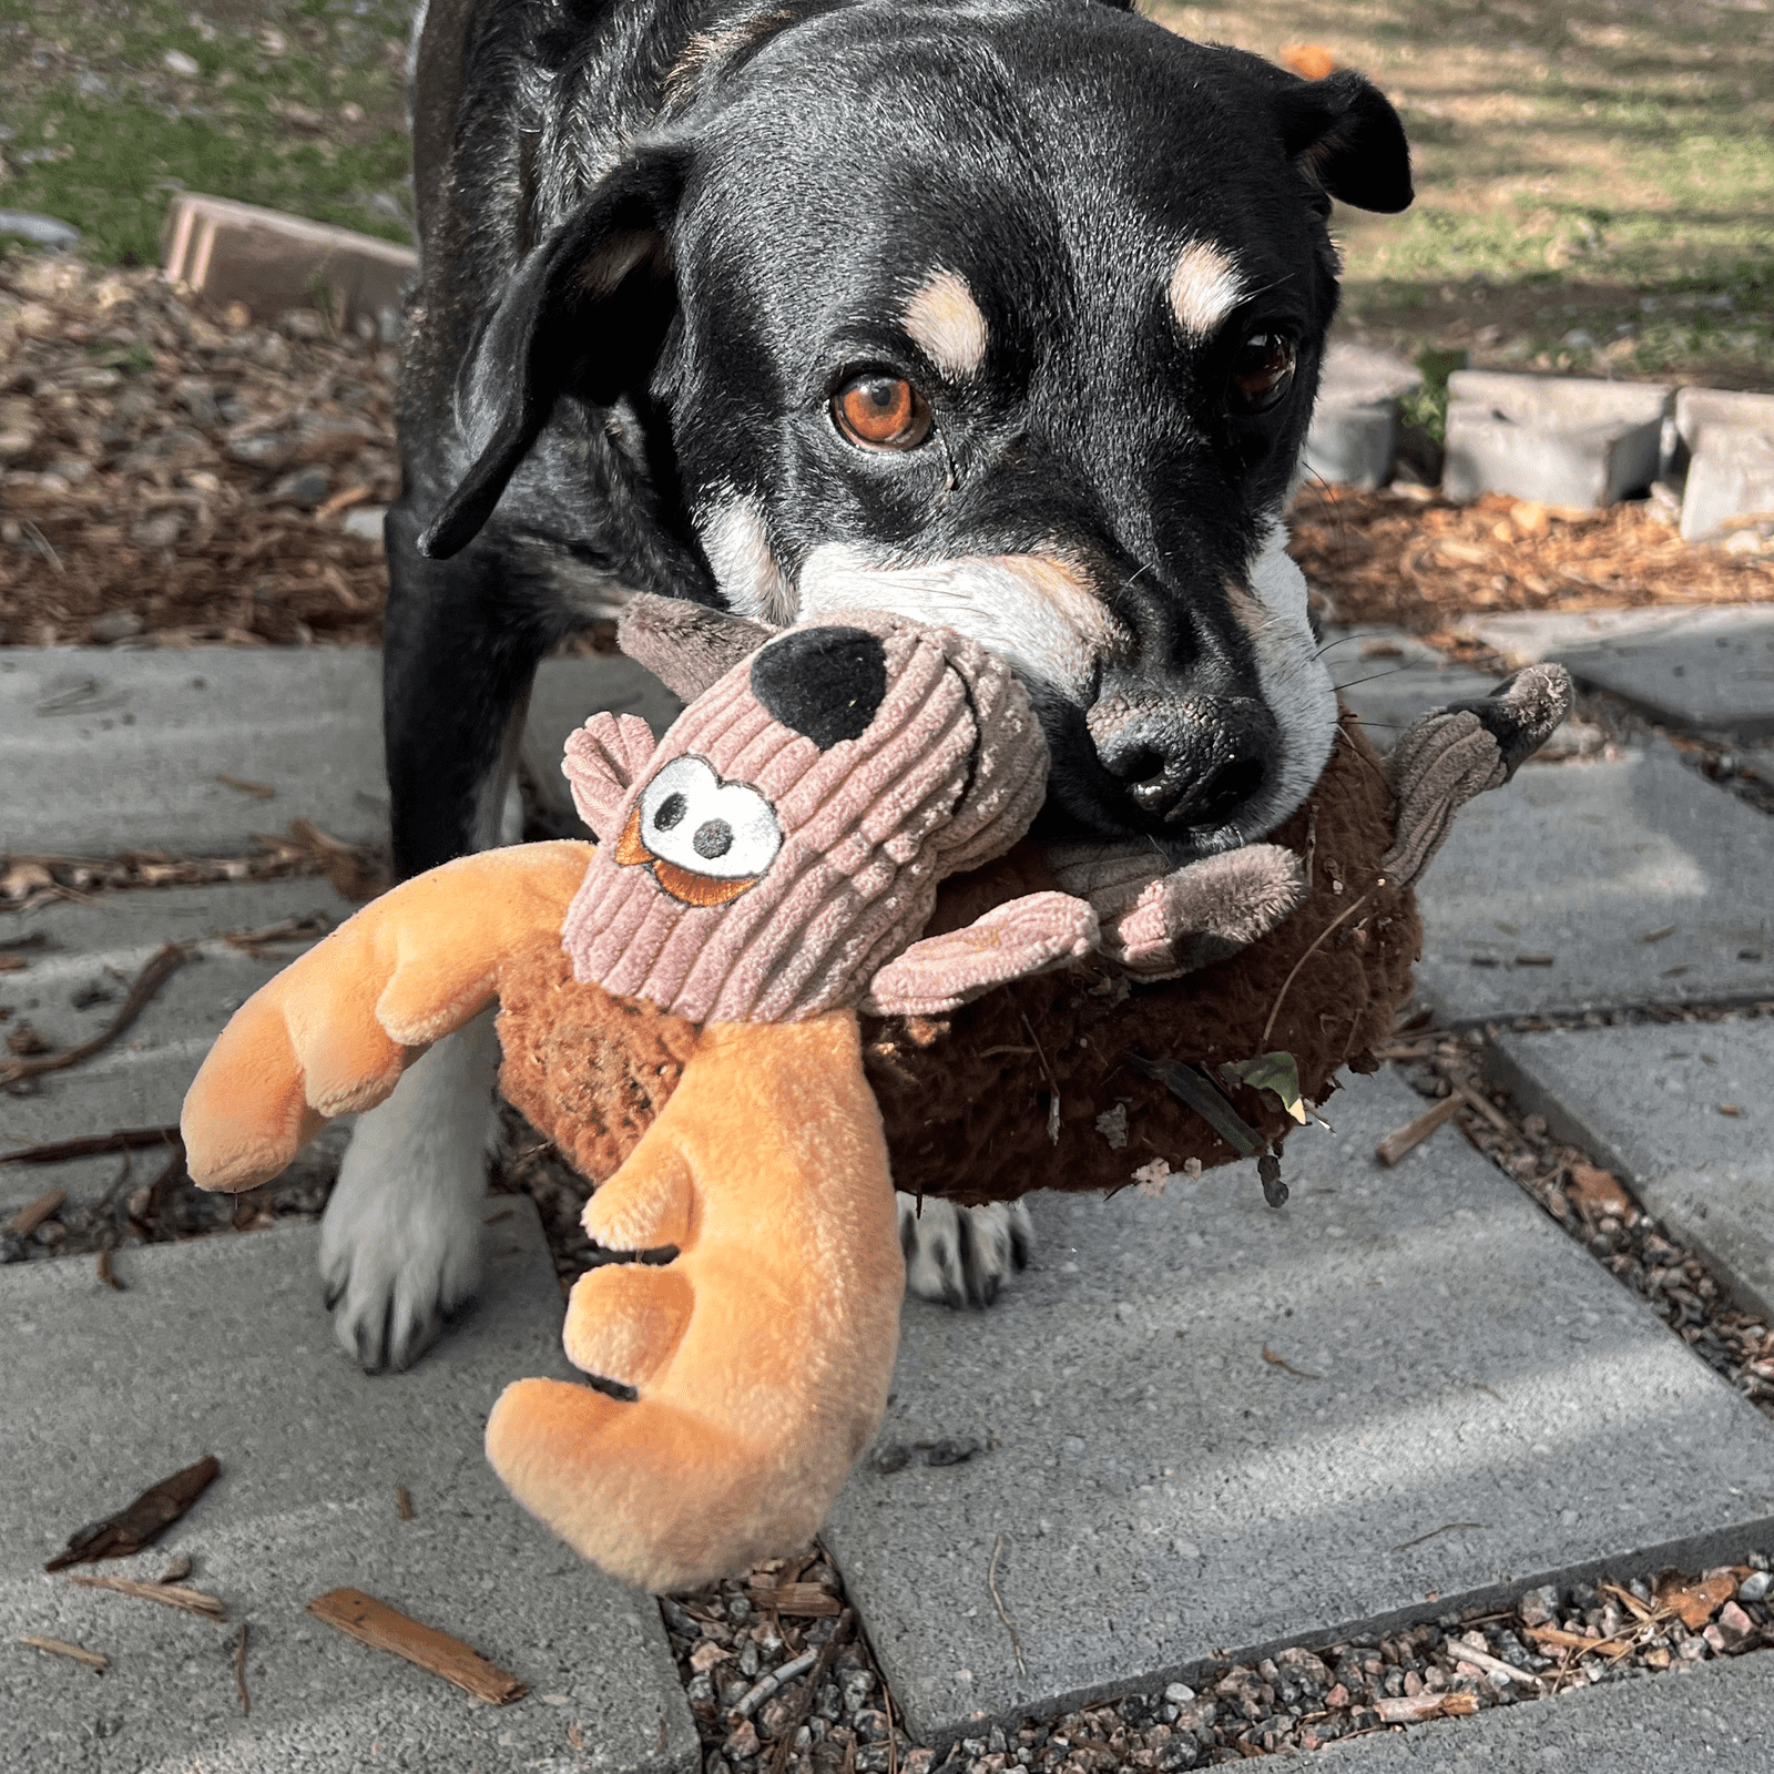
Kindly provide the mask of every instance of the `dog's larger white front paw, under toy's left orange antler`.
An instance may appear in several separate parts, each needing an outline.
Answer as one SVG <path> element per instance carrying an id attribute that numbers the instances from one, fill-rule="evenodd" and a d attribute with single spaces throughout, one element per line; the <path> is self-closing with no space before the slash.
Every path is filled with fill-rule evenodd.
<path id="1" fill-rule="evenodd" d="M 486 1013 L 358 1118 L 321 1222 L 321 1281 L 334 1336 L 369 1373 L 412 1366 L 481 1279 L 497 1066 Z"/>

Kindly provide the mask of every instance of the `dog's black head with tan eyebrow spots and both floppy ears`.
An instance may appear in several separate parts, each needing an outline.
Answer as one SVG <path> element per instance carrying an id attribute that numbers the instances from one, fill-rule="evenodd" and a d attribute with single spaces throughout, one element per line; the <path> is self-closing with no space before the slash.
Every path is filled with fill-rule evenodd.
<path id="1" fill-rule="evenodd" d="M 431 550 L 557 399 L 614 406 L 727 608 L 1015 665 L 1050 823 L 1187 860 L 1283 820 L 1336 704 L 1281 509 L 1330 199 L 1410 200 L 1385 99 L 1095 0 L 784 0 L 663 92 L 495 314 Z"/>

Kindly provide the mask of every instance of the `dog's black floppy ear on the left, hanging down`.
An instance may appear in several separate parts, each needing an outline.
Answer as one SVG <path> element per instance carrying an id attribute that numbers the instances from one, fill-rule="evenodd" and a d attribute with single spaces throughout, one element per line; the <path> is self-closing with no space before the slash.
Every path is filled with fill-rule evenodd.
<path id="1" fill-rule="evenodd" d="M 523 261 L 468 369 L 481 454 L 419 538 L 422 555 L 447 561 L 474 541 L 562 389 L 603 406 L 646 389 L 676 310 L 669 227 L 687 170 L 681 147 L 630 154 Z"/>

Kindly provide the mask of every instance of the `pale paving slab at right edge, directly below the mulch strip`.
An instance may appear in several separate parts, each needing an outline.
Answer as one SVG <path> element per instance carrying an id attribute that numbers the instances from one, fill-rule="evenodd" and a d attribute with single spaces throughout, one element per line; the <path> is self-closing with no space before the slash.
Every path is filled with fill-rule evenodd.
<path id="1" fill-rule="evenodd" d="M 1664 726 L 1774 734 L 1774 605 L 1533 612 L 1462 624 L 1511 658 L 1550 658 Z"/>

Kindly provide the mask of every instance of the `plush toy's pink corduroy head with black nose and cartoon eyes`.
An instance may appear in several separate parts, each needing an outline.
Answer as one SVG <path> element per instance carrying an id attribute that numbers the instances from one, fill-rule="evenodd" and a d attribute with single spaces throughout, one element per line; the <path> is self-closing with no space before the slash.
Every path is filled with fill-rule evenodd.
<path id="1" fill-rule="evenodd" d="M 692 1022 L 855 1002 L 937 883 L 1017 843 L 1047 786 L 1009 669 L 876 612 L 766 640 L 651 756 L 637 729 L 598 715 L 568 742 L 603 844 L 562 942 L 577 979 Z"/>

